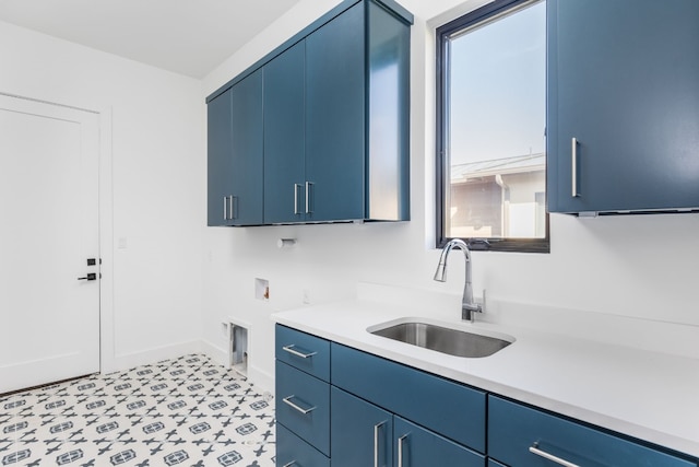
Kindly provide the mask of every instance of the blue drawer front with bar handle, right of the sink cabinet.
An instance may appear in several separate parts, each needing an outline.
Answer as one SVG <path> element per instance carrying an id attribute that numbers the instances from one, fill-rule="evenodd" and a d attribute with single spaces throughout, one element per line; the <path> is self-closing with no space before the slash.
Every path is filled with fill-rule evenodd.
<path id="1" fill-rule="evenodd" d="M 697 466 L 613 434 L 490 396 L 488 455 L 517 467 L 554 465 L 530 452 L 535 444 L 545 453 L 580 466 Z"/>

